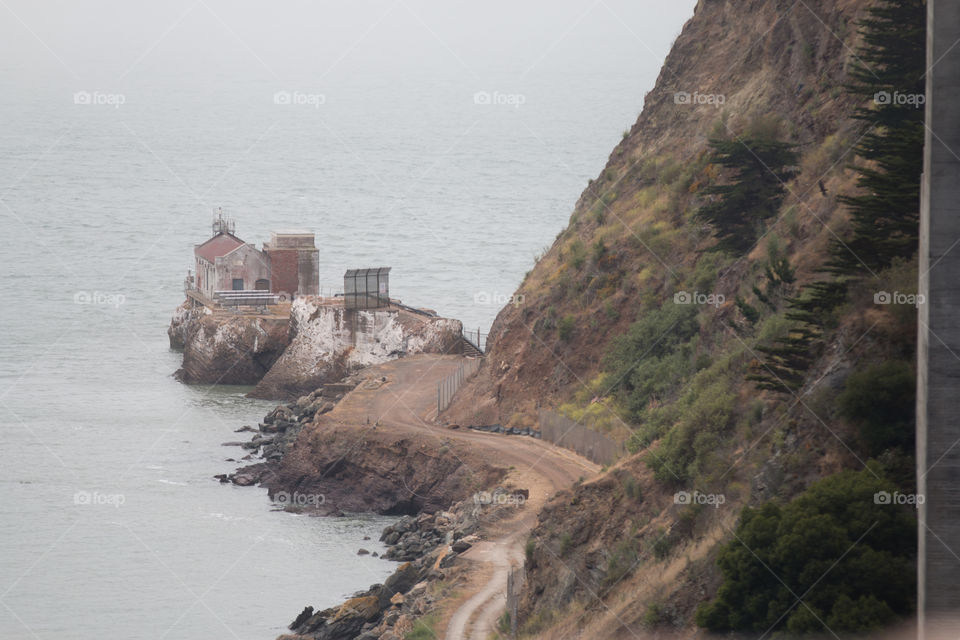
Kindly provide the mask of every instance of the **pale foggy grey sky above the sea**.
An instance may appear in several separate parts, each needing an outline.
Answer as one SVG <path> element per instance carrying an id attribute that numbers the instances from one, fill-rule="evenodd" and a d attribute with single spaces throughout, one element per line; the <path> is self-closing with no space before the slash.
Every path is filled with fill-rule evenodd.
<path id="1" fill-rule="evenodd" d="M 655 77 L 694 4 L 4 0 L 0 80 L 119 90 L 171 77 L 316 83 L 438 69 L 478 82 L 593 69 Z"/>

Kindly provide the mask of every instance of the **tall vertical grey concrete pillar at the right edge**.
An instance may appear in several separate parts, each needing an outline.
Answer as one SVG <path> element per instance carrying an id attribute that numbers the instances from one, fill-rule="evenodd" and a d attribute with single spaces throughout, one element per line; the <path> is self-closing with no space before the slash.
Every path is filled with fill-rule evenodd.
<path id="1" fill-rule="evenodd" d="M 918 636 L 960 620 L 960 2 L 927 0 L 917 344 Z"/>

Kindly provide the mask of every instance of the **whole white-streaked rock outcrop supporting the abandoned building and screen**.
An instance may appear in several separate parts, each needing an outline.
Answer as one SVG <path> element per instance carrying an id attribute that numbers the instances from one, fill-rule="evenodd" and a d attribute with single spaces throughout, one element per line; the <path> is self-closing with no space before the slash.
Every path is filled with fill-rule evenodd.
<path id="1" fill-rule="evenodd" d="M 289 317 L 212 311 L 187 300 L 167 335 L 183 350 L 182 382 L 256 385 L 252 397 L 288 400 L 404 355 L 457 353 L 461 328 L 404 308 L 347 311 L 314 298 L 296 300 Z"/>

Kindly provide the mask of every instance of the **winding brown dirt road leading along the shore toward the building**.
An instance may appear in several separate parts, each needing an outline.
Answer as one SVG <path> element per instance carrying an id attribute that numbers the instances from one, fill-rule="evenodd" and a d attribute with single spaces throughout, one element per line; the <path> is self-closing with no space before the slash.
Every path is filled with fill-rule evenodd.
<path id="1" fill-rule="evenodd" d="M 593 476 L 599 467 L 535 438 L 453 430 L 437 424 L 437 383 L 462 362 L 460 356 L 417 355 L 368 369 L 370 382 L 347 394 L 328 417 L 428 434 L 438 448 L 447 442 L 466 443 L 471 453 L 510 466 L 511 481 L 530 491 L 522 512 L 504 522 L 495 539 L 484 540 L 463 554 L 469 562 L 492 567 L 492 577 L 453 613 L 444 638 L 485 640 L 503 612 L 507 574 L 511 566 L 523 562 L 523 544 L 536 524 L 537 513 L 554 493 Z"/>

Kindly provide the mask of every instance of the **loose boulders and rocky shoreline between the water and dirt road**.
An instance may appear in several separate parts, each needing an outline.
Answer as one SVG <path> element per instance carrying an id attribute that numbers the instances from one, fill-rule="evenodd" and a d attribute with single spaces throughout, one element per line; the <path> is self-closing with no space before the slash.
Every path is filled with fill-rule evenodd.
<path id="1" fill-rule="evenodd" d="M 317 423 L 323 422 L 351 390 L 361 385 L 373 388 L 386 382 L 386 378 L 360 372 L 323 385 L 296 401 L 278 405 L 256 428 L 244 426 L 237 429 L 237 433 L 251 434 L 248 441 L 224 443 L 247 452 L 243 458 L 231 460 L 250 464 L 215 478 L 221 483 L 266 487 L 273 503 L 285 511 L 332 517 L 360 511 L 407 513 L 386 527 L 380 536 L 386 546 L 382 557 L 402 563 L 394 573 L 383 584 L 371 585 L 341 605 L 322 611 L 306 606 L 289 625 L 292 634 L 281 636 L 282 640 L 400 640 L 414 628 L 418 618 L 435 608 L 442 597 L 437 585 L 449 580 L 451 572 L 456 573 L 460 554 L 481 539 L 483 526 L 507 515 L 515 515 L 516 507 L 522 506 L 528 496 L 525 490 L 499 486 L 502 474 L 497 472 L 485 477 L 490 482 L 485 486 L 494 487 L 491 492 L 465 494 L 462 483 L 443 482 L 447 469 L 441 465 L 418 469 L 421 472 L 419 481 L 429 485 L 433 494 L 424 495 L 420 500 L 397 500 L 392 496 L 400 487 L 385 493 L 381 493 L 380 487 L 384 481 L 388 484 L 406 483 L 404 475 L 371 478 L 369 474 L 373 468 L 377 468 L 381 475 L 385 470 L 375 464 L 378 459 L 376 449 L 365 447 L 359 450 L 359 454 L 373 456 L 373 465 L 367 466 L 357 460 L 344 465 L 350 469 L 346 475 L 331 473 L 328 480 L 332 482 L 322 487 L 325 492 L 322 501 L 301 504 L 292 500 L 290 496 L 316 495 L 305 493 L 311 491 L 308 487 L 315 483 L 302 477 L 291 481 L 289 469 L 285 468 L 295 446 L 304 446 L 304 443 L 297 443 L 299 438 L 309 435 L 304 434 L 304 430 L 330 427 Z M 351 433 L 356 432 L 357 428 L 353 427 Z M 331 431 L 330 435 L 336 437 L 338 433 L 342 435 L 343 432 Z M 327 443 L 328 446 L 331 444 Z M 403 458 L 408 452 L 391 450 L 390 455 Z M 372 502 L 365 497 L 371 492 L 378 494 Z M 444 501 L 443 508 L 438 508 L 437 505 Z M 358 509 L 358 505 L 372 505 L 373 508 Z M 358 553 L 367 551 L 360 549 Z"/>

